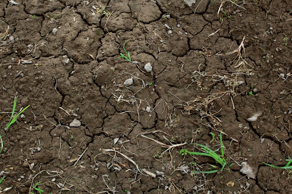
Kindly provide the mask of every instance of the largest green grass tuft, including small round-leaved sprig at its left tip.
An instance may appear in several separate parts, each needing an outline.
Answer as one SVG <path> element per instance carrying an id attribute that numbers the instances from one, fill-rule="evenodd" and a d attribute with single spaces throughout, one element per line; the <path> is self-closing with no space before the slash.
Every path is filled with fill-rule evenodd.
<path id="1" fill-rule="evenodd" d="M 180 150 L 180 154 L 181 155 L 186 155 L 186 154 L 191 154 L 191 155 L 200 155 L 200 156 L 208 156 L 208 157 L 212 157 L 216 164 L 219 163 L 221 164 L 221 170 L 222 171 L 224 169 L 224 167 L 226 166 L 227 162 L 224 158 L 224 146 L 223 146 L 223 141 L 222 141 L 222 131 L 220 132 L 220 154 L 218 155 L 216 153 L 216 151 L 218 151 L 219 149 L 217 150 L 212 150 L 210 148 L 208 148 L 207 146 L 205 145 L 201 145 L 201 144 L 195 144 L 195 145 L 198 145 L 199 147 L 201 147 L 201 150 L 203 150 L 203 152 L 189 152 L 188 150 L 186 149 L 182 149 Z M 211 165 L 209 164 L 209 166 L 211 166 L 211 168 L 218 168 L 217 166 L 215 165 Z M 205 173 L 205 174 L 209 174 L 209 173 L 216 173 L 218 172 L 219 170 L 209 170 L 209 171 L 197 171 L 197 170 L 193 170 L 194 173 Z"/>

